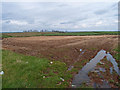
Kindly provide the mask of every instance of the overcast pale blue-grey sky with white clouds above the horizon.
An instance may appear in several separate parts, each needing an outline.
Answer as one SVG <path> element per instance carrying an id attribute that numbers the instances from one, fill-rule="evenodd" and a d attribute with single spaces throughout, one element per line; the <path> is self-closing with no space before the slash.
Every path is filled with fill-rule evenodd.
<path id="1" fill-rule="evenodd" d="M 2 31 L 118 30 L 117 2 L 2 2 Z"/>

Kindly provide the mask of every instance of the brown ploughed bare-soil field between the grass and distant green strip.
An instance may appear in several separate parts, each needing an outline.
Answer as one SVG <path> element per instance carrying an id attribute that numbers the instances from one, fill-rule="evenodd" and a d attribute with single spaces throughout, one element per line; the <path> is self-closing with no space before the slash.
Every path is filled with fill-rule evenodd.
<path id="1" fill-rule="evenodd" d="M 100 36 L 34 36 L 11 37 L 2 40 L 2 48 L 28 56 L 47 58 L 52 61 L 64 62 L 67 67 L 74 66 L 73 76 L 88 63 L 101 49 L 115 55 L 118 46 L 117 35 Z M 84 51 L 82 55 L 81 51 Z M 3 61 L 4 62 L 4 61 Z M 104 61 L 103 61 L 104 62 Z M 109 64 L 108 64 L 109 65 Z M 107 74 L 106 74 L 107 75 Z M 92 82 L 97 78 L 91 73 Z M 106 76 L 107 78 L 107 76 Z M 69 87 L 71 87 L 71 78 Z M 115 78 L 118 82 L 118 79 Z M 97 82 L 100 82 L 99 80 Z M 111 87 L 118 87 L 111 84 Z"/>

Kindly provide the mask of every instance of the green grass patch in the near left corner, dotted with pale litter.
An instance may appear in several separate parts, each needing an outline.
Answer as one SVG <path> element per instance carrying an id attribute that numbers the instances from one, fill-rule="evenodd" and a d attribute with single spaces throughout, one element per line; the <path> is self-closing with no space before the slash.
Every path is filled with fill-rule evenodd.
<path id="1" fill-rule="evenodd" d="M 2 50 L 3 88 L 65 88 L 72 75 L 63 62 Z M 63 78 L 65 81 L 62 81 Z"/>

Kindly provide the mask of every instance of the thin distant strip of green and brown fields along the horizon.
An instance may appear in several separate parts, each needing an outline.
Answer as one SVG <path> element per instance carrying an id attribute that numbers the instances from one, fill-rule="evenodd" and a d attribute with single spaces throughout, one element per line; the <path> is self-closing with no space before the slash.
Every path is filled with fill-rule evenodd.
<path id="1" fill-rule="evenodd" d="M 31 37 L 31 36 L 86 36 L 86 35 L 118 35 L 115 31 L 96 32 L 23 32 L 23 33 L 3 33 L 3 38 L 8 37 Z"/>

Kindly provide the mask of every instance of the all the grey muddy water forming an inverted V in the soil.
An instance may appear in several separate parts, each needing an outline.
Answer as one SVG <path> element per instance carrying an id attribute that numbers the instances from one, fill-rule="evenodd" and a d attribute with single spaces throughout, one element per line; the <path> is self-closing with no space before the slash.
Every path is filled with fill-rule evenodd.
<path id="1" fill-rule="evenodd" d="M 80 85 L 84 82 L 84 83 L 89 83 L 90 82 L 90 79 L 88 77 L 88 73 L 92 70 L 94 70 L 94 67 L 97 65 L 97 63 L 100 62 L 100 60 L 102 60 L 104 57 L 107 57 L 107 60 L 109 60 L 113 66 L 114 66 L 114 70 L 118 73 L 118 75 L 120 75 L 120 71 L 119 71 L 119 68 L 118 68 L 118 64 L 117 62 L 115 61 L 115 59 L 112 57 L 111 54 L 107 53 L 106 54 L 106 51 L 105 50 L 100 50 L 97 55 L 90 60 L 89 63 L 87 63 L 80 71 L 77 75 L 75 75 L 73 81 L 72 81 L 72 87 L 80 87 Z M 100 68 L 99 69 L 100 71 L 102 70 L 103 72 L 105 72 L 105 70 L 103 68 Z M 98 71 L 99 73 L 99 71 Z M 105 82 L 103 82 L 105 83 Z M 108 88 L 109 85 L 107 85 L 106 83 L 106 86 L 102 86 L 102 87 L 106 87 Z"/>

